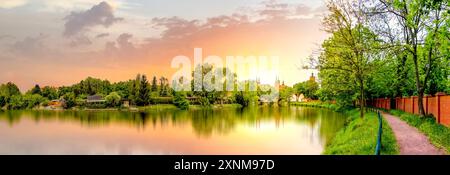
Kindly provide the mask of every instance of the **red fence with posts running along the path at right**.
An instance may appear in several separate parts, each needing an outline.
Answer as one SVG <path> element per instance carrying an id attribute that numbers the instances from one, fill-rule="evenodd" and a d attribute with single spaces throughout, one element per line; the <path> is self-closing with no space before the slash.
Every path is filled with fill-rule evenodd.
<path id="1" fill-rule="evenodd" d="M 417 96 L 412 97 L 397 97 L 378 98 L 368 101 L 369 106 L 383 108 L 383 109 L 397 109 L 412 114 L 419 114 Z M 440 124 L 450 126 L 450 95 L 438 93 L 436 96 L 423 97 L 423 108 L 426 114 L 431 114 L 436 118 Z"/>

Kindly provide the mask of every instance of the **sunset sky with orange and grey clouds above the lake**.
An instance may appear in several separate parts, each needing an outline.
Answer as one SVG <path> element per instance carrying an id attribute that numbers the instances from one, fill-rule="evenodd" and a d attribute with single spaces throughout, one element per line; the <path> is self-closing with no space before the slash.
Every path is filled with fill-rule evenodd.
<path id="1" fill-rule="evenodd" d="M 137 73 L 171 77 L 172 58 L 279 56 L 292 85 L 327 37 L 318 0 L 1 0 L 0 83 L 71 85 Z"/>

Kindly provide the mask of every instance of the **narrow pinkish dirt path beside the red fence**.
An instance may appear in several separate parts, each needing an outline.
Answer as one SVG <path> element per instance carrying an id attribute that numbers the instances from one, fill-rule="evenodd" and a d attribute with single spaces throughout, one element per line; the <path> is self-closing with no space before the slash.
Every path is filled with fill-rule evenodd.
<path id="1" fill-rule="evenodd" d="M 417 128 L 409 126 L 400 118 L 383 113 L 384 118 L 394 131 L 400 147 L 400 155 L 443 155 L 444 151 L 437 149 L 428 138 Z"/>

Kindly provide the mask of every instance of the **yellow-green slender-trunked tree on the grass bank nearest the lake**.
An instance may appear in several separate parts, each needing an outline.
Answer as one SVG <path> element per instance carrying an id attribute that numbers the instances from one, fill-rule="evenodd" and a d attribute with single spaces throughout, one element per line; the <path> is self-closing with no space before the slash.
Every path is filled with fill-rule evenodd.
<path id="1" fill-rule="evenodd" d="M 359 7 L 358 4 L 350 2 L 329 2 L 330 14 L 325 17 L 323 26 L 332 36 L 322 44 L 324 52 L 319 57 L 319 69 L 322 74 L 328 74 L 328 76 L 333 75 L 326 70 L 347 75 L 346 78 L 356 84 L 357 94 L 355 95 L 358 96 L 360 116 L 363 117 L 366 99 L 365 83 L 367 76 L 374 68 L 372 61 L 377 59 L 374 48 L 378 48 L 378 38 L 376 34 L 364 27 L 362 20 L 364 16 L 361 15 Z"/>

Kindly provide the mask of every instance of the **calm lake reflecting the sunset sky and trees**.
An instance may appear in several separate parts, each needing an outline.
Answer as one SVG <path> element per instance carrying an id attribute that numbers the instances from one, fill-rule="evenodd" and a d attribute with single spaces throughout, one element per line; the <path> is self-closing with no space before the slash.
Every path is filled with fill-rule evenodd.
<path id="1" fill-rule="evenodd" d="M 309 107 L 0 112 L 0 154 L 320 154 L 345 116 Z"/>

